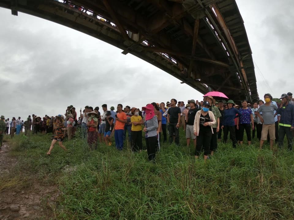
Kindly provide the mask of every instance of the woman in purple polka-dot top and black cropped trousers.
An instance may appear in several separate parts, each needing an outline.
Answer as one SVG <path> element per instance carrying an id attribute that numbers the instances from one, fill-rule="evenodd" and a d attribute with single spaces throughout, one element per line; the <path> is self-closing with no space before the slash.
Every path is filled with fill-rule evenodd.
<path id="1" fill-rule="evenodd" d="M 251 144 L 251 128 L 254 130 L 252 111 L 247 107 L 247 101 L 242 101 L 242 108 L 239 109 L 241 116 L 237 118 L 237 129 L 239 130 L 240 144 L 243 144 L 244 130 L 246 131 L 248 145 Z M 240 123 L 239 123 L 240 122 Z M 251 126 L 252 124 L 252 126 Z"/>

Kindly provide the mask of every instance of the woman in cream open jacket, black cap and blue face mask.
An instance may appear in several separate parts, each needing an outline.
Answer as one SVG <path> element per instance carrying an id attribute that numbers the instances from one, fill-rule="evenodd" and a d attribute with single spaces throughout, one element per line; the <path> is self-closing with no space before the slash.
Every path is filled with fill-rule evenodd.
<path id="1" fill-rule="evenodd" d="M 198 111 L 194 119 L 194 135 L 196 138 L 195 158 L 198 159 L 203 146 L 204 160 L 210 154 L 210 142 L 213 134 L 212 126 L 216 124 L 215 117 L 212 111 L 209 111 L 209 102 L 205 101 L 202 105 L 202 110 Z"/>

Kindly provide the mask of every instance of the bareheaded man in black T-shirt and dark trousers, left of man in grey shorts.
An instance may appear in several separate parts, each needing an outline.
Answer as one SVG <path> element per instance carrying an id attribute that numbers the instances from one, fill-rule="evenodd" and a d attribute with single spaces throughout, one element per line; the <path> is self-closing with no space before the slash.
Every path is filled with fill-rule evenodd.
<path id="1" fill-rule="evenodd" d="M 180 144 L 179 138 L 179 127 L 181 120 L 181 109 L 177 106 L 176 99 L 171 99 L 171 107 L 168 108 L 168 132 L 169 132 L 169 142 L 173 142 L 172 135 L 175 133 L 175 143 L 176 145 Z M 184 107 L 185 108 L 185 107 Z"/>

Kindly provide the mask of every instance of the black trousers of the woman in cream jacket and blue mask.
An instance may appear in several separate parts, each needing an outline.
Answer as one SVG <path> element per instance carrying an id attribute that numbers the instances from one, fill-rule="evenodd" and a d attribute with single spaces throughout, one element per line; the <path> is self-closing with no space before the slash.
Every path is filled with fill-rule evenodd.
<path id="1" fill-rule="evenodd" d="M 210 141 L 211 141 L 212 132 L 211 130 L 203 131 L 199 130 L 199 134 L 196 138 L 196 149 L 195 156 L 199 156 L 201 154 L 201 148 L 204 149 L 204 155 L 210 154 Z"/>

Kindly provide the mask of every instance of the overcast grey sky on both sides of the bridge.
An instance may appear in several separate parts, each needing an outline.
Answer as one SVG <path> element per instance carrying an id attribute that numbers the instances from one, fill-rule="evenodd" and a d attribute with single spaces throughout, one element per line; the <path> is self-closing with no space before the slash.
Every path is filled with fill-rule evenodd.
<path id="1" fill-rule="evenodd" d="M 255 66 L 259 96 L 294 92 L 294 1 L 237 4 L 260 70 Z M 203 96 L 153 65 L 73 29 L 23 13 L 13 16 L 3 8 L 0 20 L 0 114 L 6 118 L 55 116 L 68 105 L 77 110 L 104 103 L 139 108 Z"/>

